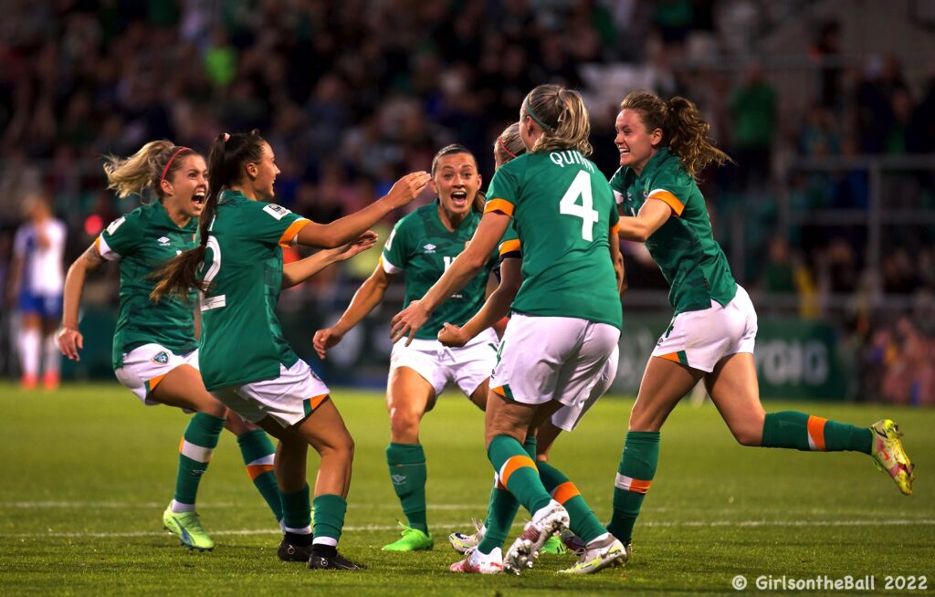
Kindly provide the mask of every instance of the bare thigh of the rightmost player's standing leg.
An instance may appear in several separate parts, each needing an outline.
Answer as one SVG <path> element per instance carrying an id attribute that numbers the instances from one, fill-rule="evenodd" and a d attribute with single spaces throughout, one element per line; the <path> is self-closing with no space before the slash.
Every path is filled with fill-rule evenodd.
<path id="1" fill-rule="evenodd" d="M 675 405 L 702 376 L 703 371 L 679 362 L 650 357 L 640 381 L 637 401 L 630 411 L 629 431 L 659 431 Z"/>

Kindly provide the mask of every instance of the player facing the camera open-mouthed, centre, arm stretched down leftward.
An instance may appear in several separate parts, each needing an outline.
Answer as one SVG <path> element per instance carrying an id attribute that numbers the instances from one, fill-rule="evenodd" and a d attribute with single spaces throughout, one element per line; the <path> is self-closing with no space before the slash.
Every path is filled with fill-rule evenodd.
<path id="1" fill-rule="evenodd" d="M 323 359 L 328 348 L 380 304 L 394 277 L 405 274 L 404 306 L 409 305 L 441 277 L 477 230 L 483 207 L 481 175 L 468 148 L 449 145 L 439 150 L 432 160 L 431 174 L 430 184 L 438 199 L 396 223 L 377 269 L 354 294 L 351 305 L 335 325 L 315 333 L 315 349 Z M 490 327 L 477 331 L 458 348 L 442 346 L 437 335 L 445 321 L 462 324 L 478 312 L 496 262 L 495 249 L 488 253 L 480 273 L 439 306 L 411 344 L 400 340 L 393 347 L 386 391 L 390 415 L 386 463 L 409 524 L 403 528 L 402 538 L 383 547 L 385 551 L 415 551 L 434 545 L 425 515 L 427 473 L 419 423 L 450 383 L 483 409 L 498 344 Z"/>

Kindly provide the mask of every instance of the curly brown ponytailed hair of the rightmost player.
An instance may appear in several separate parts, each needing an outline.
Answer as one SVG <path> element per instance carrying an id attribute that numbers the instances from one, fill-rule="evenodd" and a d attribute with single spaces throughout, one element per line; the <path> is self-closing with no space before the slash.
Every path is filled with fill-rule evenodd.
<path id="1" fill-rule="evenodd" d="M 709 163 L 733 163 L 721 149 L 714 147 L 708 133 L 711 124 L 701 118 L 698 107 L 684 97 L 668 102 L 651 92 L 631 92 L 620 103 L 620 109 L 640 112 L 640 121 L 648 133 L 662 131 L 662 143 L 669 147 L 692 178 Z"/>

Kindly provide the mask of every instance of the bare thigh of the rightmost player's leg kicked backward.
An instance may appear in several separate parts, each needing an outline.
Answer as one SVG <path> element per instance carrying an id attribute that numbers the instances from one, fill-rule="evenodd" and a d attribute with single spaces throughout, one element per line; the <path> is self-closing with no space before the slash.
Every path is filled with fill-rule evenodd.
<path id="1" fill-rule="evenodd" d="M 737 441 L 744 446 L 762 444 L 766 411 L 760 403 L 754 355 L 738 352 L 726 356 L 704 381 L 712 402 Z"/>

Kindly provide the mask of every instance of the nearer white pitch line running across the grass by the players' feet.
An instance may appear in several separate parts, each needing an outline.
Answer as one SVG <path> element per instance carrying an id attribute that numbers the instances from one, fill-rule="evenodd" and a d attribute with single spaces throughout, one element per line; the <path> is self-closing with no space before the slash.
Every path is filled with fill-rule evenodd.
<path id="1" fill-rule="evenodd" d="M 521 524 L 514 522 L 513 526 Z M 436 529 L 461 529 L 469 526 L 468 522 L 444 522 L 432 524 Z M 640 523 L 641 527 L 887 527 L 887 526 L 935 526 L 935 519 L 879 519 L 879 520 L 649 520 Z M 345 533 L 360 531 L 396 531 L 398 525 L 366 524 L 344 527 Z M 216 535 L 253 535 L 253 534 L 280 534 L 276 529 L 228 529 L 211 531 Z M 0 538 L 29 539 L 39 537 L 56 537 L 80 539 L 96 538 L 123 538 L 123 537 L 154 537 L 165 534 L 152 531 L 130 531 L 125 533 L 0 533 Z"/>

